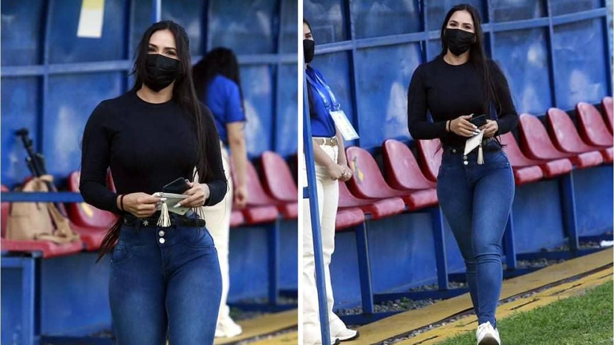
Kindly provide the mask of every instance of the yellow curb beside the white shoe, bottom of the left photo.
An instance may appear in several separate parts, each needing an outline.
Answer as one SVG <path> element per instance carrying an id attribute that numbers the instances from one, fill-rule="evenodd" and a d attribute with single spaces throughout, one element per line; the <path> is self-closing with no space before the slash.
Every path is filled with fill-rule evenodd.
<path id="1" fill-rule="evenodd" d="M 216 338 L 214 344 L 236 343 L 237 341 L 254 338 L 255 336 L 297 327 L 298 311 L 297 309 L 292 309 L 274 314 L 263 314 L 253 319 L 241 320 L 238 324 L 243 328 L 243 333 L 233 338 Z"/>

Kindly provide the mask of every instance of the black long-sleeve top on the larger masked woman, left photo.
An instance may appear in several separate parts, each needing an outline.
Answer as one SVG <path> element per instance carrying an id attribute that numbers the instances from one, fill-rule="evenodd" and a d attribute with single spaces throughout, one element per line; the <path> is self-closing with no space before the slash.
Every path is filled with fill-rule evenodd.
<path id="1" fill-rule="evenodd" d="M 210 171 L 204 181 L 211 192 L 205 201 L 209 206 L 223 199 L 227 181 L 211 111 L 201 104 L 201 114 L 211 143 L 206 148 Z M 173 99 L 148 103 L 134 90 L 98 104 L 83 133 L 79 189 L 85 202 L 122 214 L 116 202 L 119 194 L 152 194 L 178 177 L 192 180 L 197 141 L 190 117 Z M 106 187 L 108 167 L 117 193 Z"/>

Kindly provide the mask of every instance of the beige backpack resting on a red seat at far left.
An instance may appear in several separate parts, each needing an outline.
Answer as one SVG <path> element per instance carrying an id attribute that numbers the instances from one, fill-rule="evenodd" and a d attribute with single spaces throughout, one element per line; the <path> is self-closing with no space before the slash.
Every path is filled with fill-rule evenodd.
<path id="1" fill-rule="evenodd" d="M 34 177 L 26 182 L 22 192 L 49 192 L 45 181 L 51 175 Z M 79 239 L 68 219 L 61 215 L 53 203 L 12 203 L 6 223 L 6 238 L 19 240 L 52 241 L 58 244 Z"/>

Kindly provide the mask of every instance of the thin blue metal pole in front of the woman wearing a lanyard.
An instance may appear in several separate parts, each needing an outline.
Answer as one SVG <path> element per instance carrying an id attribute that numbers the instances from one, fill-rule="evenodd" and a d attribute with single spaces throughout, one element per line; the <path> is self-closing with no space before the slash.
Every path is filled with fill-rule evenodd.
<path id="1" fill-rule="evenodd" d="M 303 65 L 303 71 L 305 71 L 305 65 Z M 311 210 L 309 213 L 311 214 L 311 232 L 313 233 L 313 255 L 316 264 L 317 305 L 320 311 L 322 345 L 330 345 L 330 329 L 328 328 L 328 308 L 324 278 L 324 258 L 322 257 L 322 234 L 320 232 L 320 216 L 317 208 L 316 167 L 314 166 L 313 145 L 311 143 L 311 125 L 309 123 L 309 102 L 307 99 L 307 84 L 305 82 L 304 75 L 303 147 L 305 150 L 305 165 L 307 168 L 307 187 L 303 188 L 303 198 L 309 198 L 309 210 Z"/>

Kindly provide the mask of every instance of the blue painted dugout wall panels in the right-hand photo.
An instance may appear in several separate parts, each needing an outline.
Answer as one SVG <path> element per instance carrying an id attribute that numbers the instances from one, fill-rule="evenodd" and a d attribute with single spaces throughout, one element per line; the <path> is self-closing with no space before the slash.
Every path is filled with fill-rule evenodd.
<path id="1" fill-rule="evenodd" d="M 414 69 L 440 52 L 438 30 L 446 12 L 463 2 L 480 11 L 487 53 L 507 76 L 518 112 L 572 110 L 579 101 L 599 103 L 612 95 L 612 1 L 606 7 L 600 0 L 304 0 L 316 40 L 312 64 L 327 77 L 360 134 L 346 145 L 365 147 L 378 160 L 384 139 L 413 146 L 407 87 Z M 599 166 L 574 174 L 581 235 L 612 231 L 612 172 L 612 166 Z M 565 243 L 556 180 L 517 187 L 513 212 L 518 252 Z M 427 214 L 369 224 L 376 292 L 435 282 L 431 231 Z M 351 232 L 336 234 L 335 308 L 356 305 L 360 298 L 354 241 Z M 463 271 L 447 223 L 446 250 L 449 269 Z"/>

